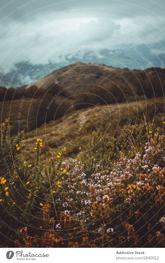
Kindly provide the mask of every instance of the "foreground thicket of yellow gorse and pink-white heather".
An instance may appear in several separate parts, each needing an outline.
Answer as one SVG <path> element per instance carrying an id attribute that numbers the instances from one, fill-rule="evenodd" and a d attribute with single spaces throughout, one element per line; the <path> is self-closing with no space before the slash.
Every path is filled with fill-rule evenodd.
<path id="1" fill-rule="evenodd" d="M 64 147 L 45 163 L 43 140 L 24 161 L 24 132 L 10 137 L 4 121 L 1 245 L 163 247 L 165 136 L 162 127 L 141 128 L 129 124 L 111 140 L 93 132 L 78 160 L 66 162 Z"/>

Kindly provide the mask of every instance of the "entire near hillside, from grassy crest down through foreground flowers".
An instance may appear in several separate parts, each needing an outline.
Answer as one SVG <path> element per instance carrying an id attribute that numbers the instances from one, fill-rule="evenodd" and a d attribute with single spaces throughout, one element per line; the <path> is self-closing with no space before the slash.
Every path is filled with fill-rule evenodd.
<path id="1" fill-rule="evenodd" d="M 163 248 L 163 111 L 164 98 L 98 105 L 13 138 L 5 120 L 1 246 Z"/>

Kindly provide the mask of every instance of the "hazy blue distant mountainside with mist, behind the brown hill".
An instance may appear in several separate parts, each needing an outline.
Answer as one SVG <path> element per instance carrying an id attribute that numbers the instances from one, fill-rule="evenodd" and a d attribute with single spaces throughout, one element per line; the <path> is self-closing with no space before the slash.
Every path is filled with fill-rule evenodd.
<path id="1" fill-rule="evenodd" d="M 120 49 L 121 48 L 121 49 Z M 163 52 L 163 51 L 162 51 Z M 145 54 L 145 59 L 143 58 Z M 147 57 L 147 55 L 148 57 Z M 165 54 L 161 53 L 162 61 L 165 61 Z M 15 60 L 12 66 L 5 72 L 0 71 L 0 85 L 6 87 L 19 87 L 29 85 L 34 81 L 46 76 L 55 69 L 65 67 L 72 63 L 100 63 L 116 68 L 146 69 L 150 67 L 163 67 L 158 56 L 150 52 L 145 45 L 128 47 L 112 47 L 107 45 L 82 45 L 81 50 L 67 55 L 59 55 L 57 62 L 49 59 L 47 64 L 34 63 L 28 61 L 17 62 Z M 3 76 L 4 75 L 4 76 Z"/>

